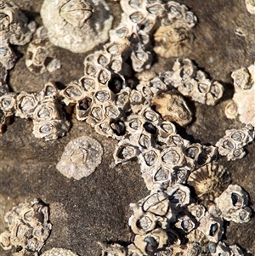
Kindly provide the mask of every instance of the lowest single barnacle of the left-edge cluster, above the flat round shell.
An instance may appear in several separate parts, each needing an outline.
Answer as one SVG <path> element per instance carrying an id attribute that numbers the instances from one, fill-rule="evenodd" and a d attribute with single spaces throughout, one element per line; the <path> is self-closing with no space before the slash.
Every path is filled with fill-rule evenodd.
<path id="1" fill-rule="evenodd" d="M 34 120 L 33 125 L 33 134 L 35 137 L 43 138 L 45 140 L 58 139 L 59 137 L 63 137 L 70 128 L 70 122 L 65 121 L 65 119 L 47 119 L 39 122 Z"/>

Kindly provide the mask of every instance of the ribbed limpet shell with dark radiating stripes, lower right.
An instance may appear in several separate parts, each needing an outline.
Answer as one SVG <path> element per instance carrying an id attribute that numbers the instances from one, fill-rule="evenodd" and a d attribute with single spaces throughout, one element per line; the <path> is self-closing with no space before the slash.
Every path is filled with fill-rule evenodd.
<path id="1" fill-rule="evenodd" d="M 202 201 L 213 201 L 230 183 L 230 174 L 218 162 L 209 162 L 192 172 L 187 180 Z"/>

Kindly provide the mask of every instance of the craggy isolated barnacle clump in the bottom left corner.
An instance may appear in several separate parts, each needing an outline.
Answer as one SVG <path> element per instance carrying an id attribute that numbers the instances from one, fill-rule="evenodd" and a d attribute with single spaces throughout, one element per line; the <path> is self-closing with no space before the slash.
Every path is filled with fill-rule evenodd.
<path id="1" fill-rule="evenodd" d="M 0 235 L 0 245 L 4 250 L 16 247 L 14 255 L 36 255 L 52 228 L 48 222 L 48 207 L 37 199 L 20 203 L 5 214 L 4 220 L 8 230 Z"/>

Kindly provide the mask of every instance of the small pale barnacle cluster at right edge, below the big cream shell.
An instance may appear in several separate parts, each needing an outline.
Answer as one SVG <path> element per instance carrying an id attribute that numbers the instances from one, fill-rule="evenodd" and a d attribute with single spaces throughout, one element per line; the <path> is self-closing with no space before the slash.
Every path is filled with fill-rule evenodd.
<path id="1" fill-rule="evenodd" d="M 243 147 L 252 142 L 255 138 L 254 127 L 247 124 L 241 129 L 231 129 L 225 131 L 224 138 L 221 138 L 216 143 L 218 153 L 221 156 L 227 156 L 229 160 L 241 159 L 246 155 Z"/>

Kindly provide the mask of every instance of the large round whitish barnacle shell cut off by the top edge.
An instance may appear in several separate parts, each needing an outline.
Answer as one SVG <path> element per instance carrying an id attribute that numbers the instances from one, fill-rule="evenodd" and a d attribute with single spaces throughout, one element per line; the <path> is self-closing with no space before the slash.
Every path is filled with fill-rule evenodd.
<path id="1" fill-rule="evenodd" d="M 105 43 L 113 20 L 103 0 L 44 0 L 41 16 L 49 41 L 74 53 Z"/>

